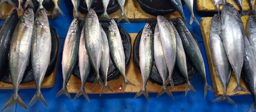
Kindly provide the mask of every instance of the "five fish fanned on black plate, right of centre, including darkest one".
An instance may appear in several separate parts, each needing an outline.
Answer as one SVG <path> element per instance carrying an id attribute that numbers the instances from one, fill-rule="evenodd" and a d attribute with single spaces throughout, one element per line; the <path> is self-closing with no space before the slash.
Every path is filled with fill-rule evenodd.
<path id="1" fill-rule="evenodd" d="M 195 91 L 188 79 L 186 56 L 191 61 L 193 68 L 204 80 L 204 98 L 207 95 L 207 89 L 212 90 L 207 83 L 204 60 L 198 43 L 181 19 L 177 19 L 177 29 L 172 22 L 169 22 L 163 16 L 157 16 L 157 25 L 154 31 L 152 31 L 152 26 L 146 23 L 140 39 L 139 55 L 143 88 L 134 98 L 144 94 L 149 101 L 146 83 L 151 74 L 153 61 L 163 80 L 163 87 L 157 97 L 164 92 L 173 97 L 167 85 L 170 83 L 172 88 L 175 88 L 172 80 L 175 64 L 177 64 L 178 69 L 186 80 L 186 94 L 189 88 Z"/>

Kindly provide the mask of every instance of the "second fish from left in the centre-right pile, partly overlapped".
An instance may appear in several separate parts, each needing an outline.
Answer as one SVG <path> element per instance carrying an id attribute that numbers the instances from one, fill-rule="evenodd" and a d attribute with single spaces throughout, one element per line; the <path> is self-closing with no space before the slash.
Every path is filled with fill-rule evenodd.
<path id="1" fill-rule="evenodd" d="M 157 97 L 162 95 L 164 92 L 166 92 L 167 95 L 173 97 L 172 93 L 167 88 L 166 82 L 168 82 L 168 81 L 166 81 L 166 80 L 168 79 L 168 68 L 167 68 L 167 64 L 166 64 L 166 59 L 163 54 L 163 47 L 161 45 L 158 24 L 156 25 L 155 30 L 154 30 L 154 62 L 157 66 L 157 71 L 163 80 L 162 89 L 157 94 Z"/>

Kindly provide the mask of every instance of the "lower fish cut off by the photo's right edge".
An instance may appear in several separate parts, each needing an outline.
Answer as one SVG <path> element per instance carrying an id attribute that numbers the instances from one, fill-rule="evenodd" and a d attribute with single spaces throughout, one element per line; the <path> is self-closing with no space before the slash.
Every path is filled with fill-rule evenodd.
<path id="1" fill-rule="evenodd" d="M 250 46 L 249 40 L 245 37 L 245 55 L 242 71 L 245 84 L 248 86 L 254 102 L 249 112 L 253 112 L 256 109 L 256 60 L 251 48 L 252 46 Z"/>

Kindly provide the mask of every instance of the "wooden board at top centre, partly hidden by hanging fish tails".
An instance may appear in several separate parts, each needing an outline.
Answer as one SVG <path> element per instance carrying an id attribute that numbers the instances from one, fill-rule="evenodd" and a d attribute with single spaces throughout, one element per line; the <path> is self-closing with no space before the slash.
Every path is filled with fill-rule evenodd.
<path id="1" fill-rule="evenodd" d="M 152 22 L 152 21 L 156 21 L 157 16 L 151 15 L 146 13 L 145 11 L 143 11 L 140 8 L 139 3 L 136 0 L 126 0 L 125 1 L 125 6 L 124 6 L 124 11 L 126 16 L 128 17 L 128 19 L 130 20 L 130 22 Z M 75 10 L 73 10 L 73 16 L 75 17 Z M 79 14 L 82 15 L 82 17 L 86 17 L 86 14 L 82 14 L 81 12 L 79 12 Z M 116 12 L 109 14 L 109 16 L 111 18 L 113 18 L 114 20 L 118 20 L 119 15 L 121 14 L 120 9 L 117 10 Z M 177 18 L 180 17 L 180 14 L 175 11 L 171 14 L 166 14 L 164 15 L 164 17 L 166 18 Z M 122 22 L 126 22 L 125 20 L 122 20 Z"/>

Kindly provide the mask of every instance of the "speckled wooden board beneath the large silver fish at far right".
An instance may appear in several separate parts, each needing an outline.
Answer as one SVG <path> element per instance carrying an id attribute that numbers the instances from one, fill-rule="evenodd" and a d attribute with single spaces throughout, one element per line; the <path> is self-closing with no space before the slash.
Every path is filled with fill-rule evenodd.
<path id="1" fill-rule="evenodd" d="M 247 25 L 247 21 L 249 20 L 249 16 L 242 16 L 241 17 L 243 23 L 244 23 L 244 27 Z M 211 20 L 212 17 L 202 17 L 202 19 L 200 20 L 200 27 L 201 27 L 201 33 L 203 36 L 203 40 L 204 40 L 204 47 L 206 50 L 206 55 L 207 55 L 207 60 L 209 63 L 209 69 L 210 69 L 210 74 L 211 74 L 211 78 L 212 78 L 212 86 L 213 86 L 213 91 L 214 91 L 214 95 L 215 96 L 220 96 L 224 94 L 224 89 L 223 86 L 221 84 L 221 81 L 219 80 L 216 72 L 215 72 L 215 68 L 213 66 L 212 63 L 212 56 L 210 53 L 210 48 L 209 48 L 209 27 L 211 24 Z M 246 31 L 246 27 L 245 27 L 245 31 Z M 235 87 L 237 86 L 237 82 L 236 82 L 236 76 L 234 75 L 234 72 L 231 75 L 230 78 L 230 82 L 229 85 L 227 87 L 227 95 L 230 95 L 230 93 L 233 91 L 233 89 L 235 89 Z M 245 87 L 247 89 L 247 87 L 244 84 L 244 80 L 241 79 L 241 86 Z M 247 95 L 249 94 L 248 92 L 237 92 L 236 95 Z"/>

